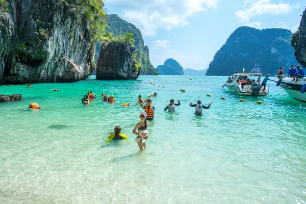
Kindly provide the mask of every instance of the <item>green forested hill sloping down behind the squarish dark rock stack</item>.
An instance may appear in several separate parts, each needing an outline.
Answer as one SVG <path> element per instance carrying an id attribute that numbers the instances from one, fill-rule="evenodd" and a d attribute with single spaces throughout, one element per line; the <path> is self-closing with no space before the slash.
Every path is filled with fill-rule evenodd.
<path id="1" fill-rule="evenodd" d="M 144 46 L 141 31 L 132 23 L 121 19 L 115 14 L 107 15 L 106 19 L 109 26 L 106 32 L 112 33 L 113 37 L 124 36 L 124 33 L 132 33 L 134 35 L 136 48 L 134 54 L 137 54 L 137 61 L 142 64 L 141 74 L 158 74 L 158 71 L 150 63 L 149 49 L 147 46 Z M 96 51 L 98 52 L 99 48 Z"/>

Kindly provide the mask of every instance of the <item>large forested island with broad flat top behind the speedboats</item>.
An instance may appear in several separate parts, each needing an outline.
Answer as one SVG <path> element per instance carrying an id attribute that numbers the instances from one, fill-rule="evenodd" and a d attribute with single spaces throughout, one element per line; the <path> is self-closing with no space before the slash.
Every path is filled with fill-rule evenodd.
<path id="1" fill-rule="evenodd" d="M 242 72 L 276 74 L 280 67 L 285 73 L 291 64 L 298 65 L 290 45 L 292 33 L 287 29 L 240 27 L 226 40 L 209 64 L 206 75 L 231 75 Z"/>

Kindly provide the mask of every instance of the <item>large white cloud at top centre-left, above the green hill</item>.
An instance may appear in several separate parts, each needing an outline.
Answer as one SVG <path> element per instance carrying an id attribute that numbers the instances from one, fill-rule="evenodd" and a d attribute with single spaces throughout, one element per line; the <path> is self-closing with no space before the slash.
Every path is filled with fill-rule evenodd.
<path id="1" fill-rule="evenodd" d="M 171 30 L 188 25 L 195 14 L 216 9 L 219 0 L 107 0 L 121 17 L 138 27 L 144 35 L 156 35 L 159 29 Z"/>

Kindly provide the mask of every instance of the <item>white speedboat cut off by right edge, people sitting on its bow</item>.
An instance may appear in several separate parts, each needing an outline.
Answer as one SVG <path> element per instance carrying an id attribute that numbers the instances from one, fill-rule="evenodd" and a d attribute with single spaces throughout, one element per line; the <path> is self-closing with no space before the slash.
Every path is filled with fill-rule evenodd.
<path id="1" fill-rule="evenodd" d="M 304 93 L 306 89 L 306 77 L 298 79 L 297 82 L 292 81 L 292 78 L 283 78 L 276 82 L 276 86 L 284 89 L 290 97 L 306 102 L 306 93 Z"/>

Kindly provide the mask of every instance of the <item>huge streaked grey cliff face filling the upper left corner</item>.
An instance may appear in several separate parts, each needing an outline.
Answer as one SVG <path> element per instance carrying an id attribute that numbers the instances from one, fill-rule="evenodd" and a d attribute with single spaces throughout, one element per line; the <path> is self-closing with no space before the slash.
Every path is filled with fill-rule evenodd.
<path id="1" fill-rule="evenodd" d="M 94 71 L 88 23 L 66 1 L 8 3 L 0 14 L 0 83 L 75 82 Z"/>

